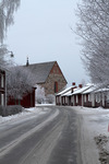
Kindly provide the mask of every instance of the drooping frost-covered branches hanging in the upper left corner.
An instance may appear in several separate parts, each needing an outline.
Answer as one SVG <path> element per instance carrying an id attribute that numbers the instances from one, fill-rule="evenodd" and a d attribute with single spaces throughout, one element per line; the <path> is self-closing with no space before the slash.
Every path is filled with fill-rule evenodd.
<path id="1" fill-rule="evenodd" d="M 21 0 L 0 0 L 0 67 L 8 66 L 8 49 L 3 45 L 8 27 L 14 23 L 14 12 L 20 7 Z"/>

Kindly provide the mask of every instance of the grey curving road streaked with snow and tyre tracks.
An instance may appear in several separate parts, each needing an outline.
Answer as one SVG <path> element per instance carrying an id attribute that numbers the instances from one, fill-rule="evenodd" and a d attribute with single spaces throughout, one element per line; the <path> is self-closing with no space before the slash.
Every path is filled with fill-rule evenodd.
<path id="1" fill-rule="evenodd" d="M 0 125 L 0 164 L 77 164 L 75 112 L 55 106 L 43 112 Z"/>

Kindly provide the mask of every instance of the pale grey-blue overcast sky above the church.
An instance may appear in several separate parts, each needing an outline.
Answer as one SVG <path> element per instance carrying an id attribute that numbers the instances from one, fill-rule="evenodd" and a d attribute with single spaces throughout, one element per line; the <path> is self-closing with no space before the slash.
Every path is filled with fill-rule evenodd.
<path id="1" fill-rule="evenodd" d="M 14 25 L 8 31 L 5 44 L 14 52 L 14 61 L 25 65 L 57 60 L 69 85 L 84 79 L 75 30 L 76 2 L 80 0 L 21 0 Z"/>

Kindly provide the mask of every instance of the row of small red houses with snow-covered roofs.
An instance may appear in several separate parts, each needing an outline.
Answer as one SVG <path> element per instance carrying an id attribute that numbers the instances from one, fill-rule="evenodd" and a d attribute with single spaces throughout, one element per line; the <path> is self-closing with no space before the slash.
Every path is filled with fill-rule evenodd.
<path id="1" fill-rule="evenodd" d="M 99 107 L 109 108 L 109 89 L 98 89 L 94 84 L 78 86 L 73 83 L 58 94 L 56 94 L 57 105 L 68 106 L 85 106 L 85 107 Z"/>

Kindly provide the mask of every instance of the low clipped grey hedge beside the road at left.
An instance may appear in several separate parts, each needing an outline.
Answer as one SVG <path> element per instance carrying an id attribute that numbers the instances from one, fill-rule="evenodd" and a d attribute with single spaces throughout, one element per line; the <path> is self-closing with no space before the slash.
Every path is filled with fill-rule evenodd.
<path id="1" fill-rule="evenodd" d="M 11 116 L 22 113 L 23 107 L 21 105 L 0 106 L 0 116 Z"/>

